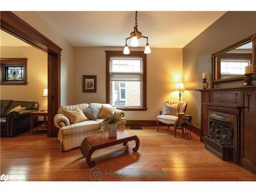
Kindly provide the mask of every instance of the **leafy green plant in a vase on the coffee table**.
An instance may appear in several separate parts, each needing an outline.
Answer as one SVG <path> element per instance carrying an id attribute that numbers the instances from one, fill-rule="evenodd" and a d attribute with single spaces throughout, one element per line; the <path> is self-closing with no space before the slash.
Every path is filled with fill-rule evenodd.
<path id="1" fill-rule="evenodd" d="M 106 117 L 100 123 L 100 131 L 104 131 L 109 127 L 109 137 L 117 137 L 117 127 L 118 125 L 125 124 L 126 120 L 119 117 L 116 114 Z"/>

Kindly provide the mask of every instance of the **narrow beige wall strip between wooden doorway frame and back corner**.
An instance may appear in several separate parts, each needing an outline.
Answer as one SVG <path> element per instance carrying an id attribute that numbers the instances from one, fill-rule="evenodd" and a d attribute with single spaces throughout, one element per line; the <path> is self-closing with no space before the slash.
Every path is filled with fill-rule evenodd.
<path id="1" fill-rule="evenodd" d="M 14 11 L 14 14 L 52 40 L 61 51 L 61 105 L 74 102 L 74 47 L 37 12 Z"/>

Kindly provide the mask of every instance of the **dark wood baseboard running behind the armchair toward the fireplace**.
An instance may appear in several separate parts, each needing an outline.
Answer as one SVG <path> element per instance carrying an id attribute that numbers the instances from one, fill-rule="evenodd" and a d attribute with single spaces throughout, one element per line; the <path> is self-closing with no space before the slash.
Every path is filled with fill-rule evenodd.
<path id="1" fill-rule="evenodd" d="M 127 120 L 126 126 L 156 127 L 157 121 L 156 120 Z M 159 126 L 166 126 L 166 124 L 159 122 Z M 193 126 L 193 129 L 191 132 L 196 134 L 199 137 L 201 136 L 201 130 L 196 126 Z"/>

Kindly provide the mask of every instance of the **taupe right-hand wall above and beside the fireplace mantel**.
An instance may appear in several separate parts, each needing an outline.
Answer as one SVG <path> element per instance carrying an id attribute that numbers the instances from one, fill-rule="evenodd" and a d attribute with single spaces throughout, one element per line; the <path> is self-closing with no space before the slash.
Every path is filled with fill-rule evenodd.
<path id="1" fill-rule="evenodd" d="M 193 115 L 197 127 L 201 121 L 200 93 L 194 90 L 202 88 L 202 72 L 208 73 L 209 80 L 211 54 L 256 33 L 255 24 L 256 12 L 227 12 L 183 48 L 183 80 L 189 90 L 183 100 L 188 101 L 187 113 Z"/>

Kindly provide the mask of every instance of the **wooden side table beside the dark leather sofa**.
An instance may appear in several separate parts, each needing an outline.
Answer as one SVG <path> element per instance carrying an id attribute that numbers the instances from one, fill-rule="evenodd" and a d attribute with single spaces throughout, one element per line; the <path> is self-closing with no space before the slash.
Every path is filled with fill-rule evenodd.
<path id="1" fill-rule="evenodd" d="M 34 111 L 29 113 L 30 114 L 30 133 L 33 134 L 33 130 L 37 129 L 37 130 L 44 130 L 47 131 L 47 116 L 48 116 L 48 111 L 44 110 L 44 111 Z M 44 123 L 33 127 L 34 125 L 34 117 L 44 117 Z"/>

